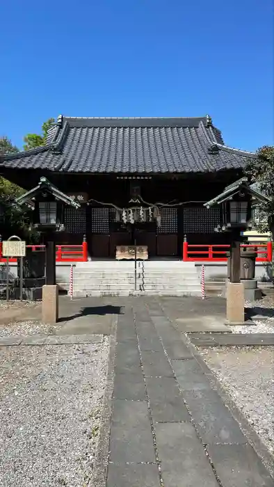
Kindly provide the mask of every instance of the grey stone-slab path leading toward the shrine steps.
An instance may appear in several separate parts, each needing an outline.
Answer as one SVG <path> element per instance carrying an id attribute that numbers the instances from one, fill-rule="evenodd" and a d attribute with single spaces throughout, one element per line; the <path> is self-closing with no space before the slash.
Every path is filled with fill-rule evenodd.
<path id="1" fill-rule="evenodd" d="M 118 316 L 106 487 L 273 487 L 159 301 Z"/>

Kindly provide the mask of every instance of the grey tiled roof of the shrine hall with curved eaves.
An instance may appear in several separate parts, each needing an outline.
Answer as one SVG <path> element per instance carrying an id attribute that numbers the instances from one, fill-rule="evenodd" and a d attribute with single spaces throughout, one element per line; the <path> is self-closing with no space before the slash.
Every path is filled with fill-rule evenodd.
<path id="1" fill-rule="evenodd" d="M 47 145 L 5 156 L 2 166 L 64 173 L 204 173 L 242 168 L 254 152 L 223 143 L 211 118 L 67 118 Z M 1 168 L 1 167 L 0 167 Z"/>

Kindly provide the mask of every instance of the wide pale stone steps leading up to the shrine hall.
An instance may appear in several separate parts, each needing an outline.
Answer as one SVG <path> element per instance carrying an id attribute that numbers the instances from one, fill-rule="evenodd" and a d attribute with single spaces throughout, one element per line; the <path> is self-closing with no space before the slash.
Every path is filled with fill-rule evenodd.
<path id="1" fill-rule="evenodd" d="M 134 261 L 77 262 L 74 296 L 200 296 L 198 272 L 193 262 Z"/>

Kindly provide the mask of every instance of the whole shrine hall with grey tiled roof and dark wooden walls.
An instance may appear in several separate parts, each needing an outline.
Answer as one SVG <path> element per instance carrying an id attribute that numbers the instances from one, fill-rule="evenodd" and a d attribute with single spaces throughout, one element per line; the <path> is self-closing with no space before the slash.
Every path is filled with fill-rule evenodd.
<path id="1" fill-rule="evenodd" d="M 47 143 L 1 157 L 0 174 L 28 190 L 45 176 L 81 209 L 65 208 L 58 244 L 86 235 L 91 258 L 147 246 L 149 258 L 182 256 L 190 244 L 227 243 L 211 200 L 243 176 L 253 152 L 227 147 L 206 115 L 196 118 L 58 116 Z"/>

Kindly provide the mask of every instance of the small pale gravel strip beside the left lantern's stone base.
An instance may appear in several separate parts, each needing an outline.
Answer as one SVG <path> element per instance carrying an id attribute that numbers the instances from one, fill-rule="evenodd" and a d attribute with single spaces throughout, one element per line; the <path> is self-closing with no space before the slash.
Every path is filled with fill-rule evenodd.
<path id="1" fill-rule="evenodd" d="M 0 337 L 15 337 L 16 335 L 53 335 L 61 328 L 60 324 L 47 325 L 38 320 L 17 321 L 0 324 Z"/>

